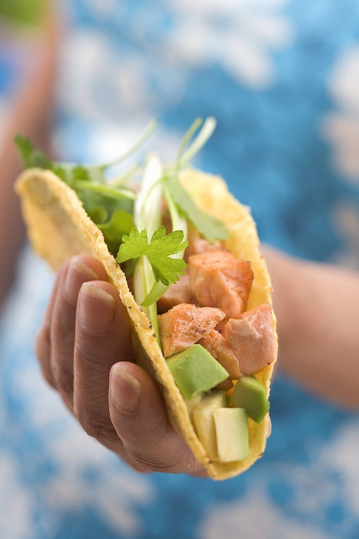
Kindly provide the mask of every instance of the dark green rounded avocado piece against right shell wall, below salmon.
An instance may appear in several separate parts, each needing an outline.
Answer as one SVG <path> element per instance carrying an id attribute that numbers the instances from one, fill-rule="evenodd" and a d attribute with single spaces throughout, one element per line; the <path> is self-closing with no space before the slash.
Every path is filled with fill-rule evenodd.
<path id="1" fill-rule="evenodd" d="M 247 415 L 258 424 L 262 423 L 269 410 L 265 388 L 254 376 L 243 376 L 238 380 L 232 399 L 235 406 L 244 408 Z"/>

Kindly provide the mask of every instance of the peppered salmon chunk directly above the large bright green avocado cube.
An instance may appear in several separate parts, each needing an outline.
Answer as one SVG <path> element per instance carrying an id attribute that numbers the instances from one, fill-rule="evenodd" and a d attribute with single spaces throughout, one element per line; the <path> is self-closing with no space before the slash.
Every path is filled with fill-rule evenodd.
<path id="1" fill-rule="evenodd" d="M 158 316 L 165 357 L 186 350 L 198 342 L 226 316 L 220 309 L 181 303 Z"/>

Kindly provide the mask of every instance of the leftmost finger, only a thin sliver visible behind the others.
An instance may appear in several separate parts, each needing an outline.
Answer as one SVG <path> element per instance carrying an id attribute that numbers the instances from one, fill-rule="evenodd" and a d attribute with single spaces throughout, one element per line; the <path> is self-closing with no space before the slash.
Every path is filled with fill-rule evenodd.
<path id="1" fill-rule="evenodd" d="M 50 302 L 48 303 L 43 325 L 41 326 L 40 330 L 38 331 L 38 334 L 36 336 L 35 341 L 35 353 L 39 360 L 41 370 L 43 371 L 43 375 L 48 382 L 54 389 L 56 389 L 56 383 L 54 381 L 54 377 L 52 375 L 51 365 L 50 365 L 50 356 L 51 356 L 51 340 L 50 340 L 50 327 L 51 327 L 51 320 L 52 320 L 52 312 L 53 307 L 56 299 L 56 295 L 59 288 L 59 282 L 63 277 L 63 274 L 65 272 L 65 265 L 61 267 L 59 270 L 55 283 L 52 289 Z"/>

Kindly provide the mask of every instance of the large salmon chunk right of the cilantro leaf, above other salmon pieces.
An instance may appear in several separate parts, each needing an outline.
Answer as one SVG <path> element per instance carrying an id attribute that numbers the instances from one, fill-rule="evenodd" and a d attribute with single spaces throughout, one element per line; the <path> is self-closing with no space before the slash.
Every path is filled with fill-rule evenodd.
<path id="1" fill-rule="evenodd" d="M 188 259 L 189 286 L 201 305 L 217 307 L 228 318 L 239 318 L 253 280 L 250 262 L 223 248 L 193 254 Z"/>

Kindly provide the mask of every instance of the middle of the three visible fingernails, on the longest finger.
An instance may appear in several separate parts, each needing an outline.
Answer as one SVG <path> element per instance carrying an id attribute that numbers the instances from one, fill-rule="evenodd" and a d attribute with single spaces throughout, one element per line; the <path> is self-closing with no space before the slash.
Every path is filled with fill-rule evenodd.
<path id="1" fill-rule="evenodd" d="M 80 290 L 79 317 L 86 331 L 90 333 L 109 331 L 115 318 L 115 299 L 102 288 L 84 282 Z"/>

